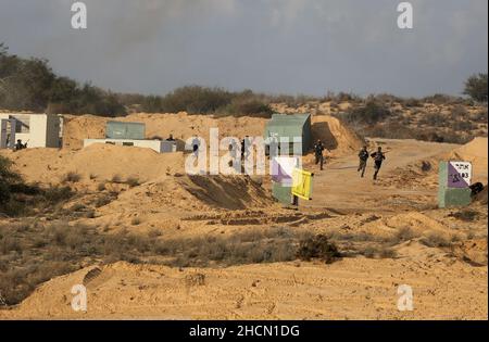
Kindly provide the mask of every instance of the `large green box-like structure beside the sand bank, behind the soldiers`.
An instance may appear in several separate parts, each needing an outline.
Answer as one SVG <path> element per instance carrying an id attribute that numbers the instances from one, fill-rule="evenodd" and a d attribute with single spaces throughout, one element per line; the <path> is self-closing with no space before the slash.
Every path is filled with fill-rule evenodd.
<path id="1" fill-rule="evenodd" d="M 292 143 L 294 137 L 302 138 L 302 154 L 312 147 L 311 114 L 274 114 L 265 126 L 264 139 L 271 137 L 288 138 L 289 153 L 293 153 Z"/>

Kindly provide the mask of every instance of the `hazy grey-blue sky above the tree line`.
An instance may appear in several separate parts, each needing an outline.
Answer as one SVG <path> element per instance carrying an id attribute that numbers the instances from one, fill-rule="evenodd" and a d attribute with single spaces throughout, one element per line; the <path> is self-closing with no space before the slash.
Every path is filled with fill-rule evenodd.
<path id="1" fill-rule="evenodd" d="M 487 72 L 487 0 L 0 0 L 0 41 L 114 91 L 189 84 L 272 93 L 459 94 Z"/>

